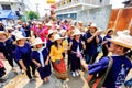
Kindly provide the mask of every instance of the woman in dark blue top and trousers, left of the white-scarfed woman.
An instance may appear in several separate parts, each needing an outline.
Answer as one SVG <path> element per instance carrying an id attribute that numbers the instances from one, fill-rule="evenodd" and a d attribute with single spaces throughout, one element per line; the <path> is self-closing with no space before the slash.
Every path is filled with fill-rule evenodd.
<path id="1" fill-rule="evenodd" d="M 31 59 L 31 46 L 26 42 L 28 37 L 24 37 L 23 35 L 15 35 L 16 37 L 16 45 L 15 45 L 15 61 L 20 64 L 20 67 L 26 72 L 26 76 L 29 77 L 30 81 L 34 80 L 31 76 L 31 69 L 32 67 L 32 74 L 35 75 L 35 67 L 32 64 Z"/>

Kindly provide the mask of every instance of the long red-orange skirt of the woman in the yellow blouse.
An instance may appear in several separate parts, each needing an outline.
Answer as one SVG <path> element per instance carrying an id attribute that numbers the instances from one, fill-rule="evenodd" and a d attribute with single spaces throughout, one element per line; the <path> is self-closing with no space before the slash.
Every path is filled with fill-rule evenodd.
<path id="1" fill-rule="evenodd" d="M 66 66 L 64 58 L 59 61 L 59 63 L 54 62 L 53 68 L 55 70 L 55 75 L 58 79 L 65 80 L 67 78 Z"/>

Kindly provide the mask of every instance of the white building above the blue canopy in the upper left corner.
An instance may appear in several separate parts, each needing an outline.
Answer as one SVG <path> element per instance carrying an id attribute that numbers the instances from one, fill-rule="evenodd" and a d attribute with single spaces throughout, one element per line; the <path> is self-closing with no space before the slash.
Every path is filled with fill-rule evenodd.
<path id="1" fill-rule="evenodd" d="M 28 6 L 30 0 L 0 0 L 0 10 L 11 10 L 20 16 L 26 10 L 32 10 L 32 4 Z"/>

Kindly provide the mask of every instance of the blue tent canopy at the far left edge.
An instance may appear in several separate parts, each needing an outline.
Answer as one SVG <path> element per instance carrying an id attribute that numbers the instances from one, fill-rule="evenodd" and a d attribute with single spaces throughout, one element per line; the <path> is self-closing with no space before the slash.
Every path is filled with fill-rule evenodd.
<path id="1" fill-rule="evenodd" d="M 18 19 L 18 15 L 11 10 L 0 10 L 0 19 Z"/>

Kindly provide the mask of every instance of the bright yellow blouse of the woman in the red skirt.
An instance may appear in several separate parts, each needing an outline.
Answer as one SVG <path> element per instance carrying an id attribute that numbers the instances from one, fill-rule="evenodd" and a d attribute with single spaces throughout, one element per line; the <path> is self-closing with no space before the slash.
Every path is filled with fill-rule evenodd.
<path id="1" fill-rule="evenodd" d="M 57 48 L 55 45 L 51 47 L 50 56 L 52 58 L 52 62 L 56 62 L 57 59 L 63 58 L 64 47 Z"/>

